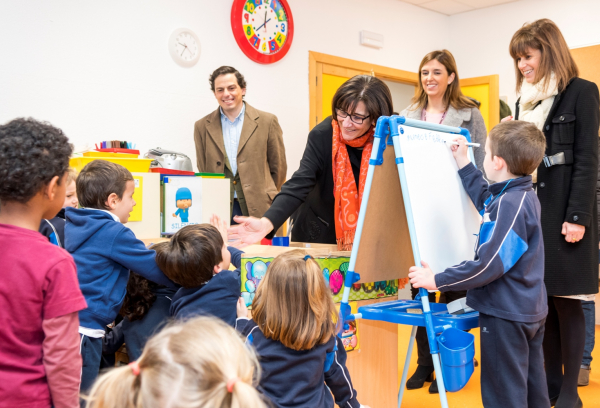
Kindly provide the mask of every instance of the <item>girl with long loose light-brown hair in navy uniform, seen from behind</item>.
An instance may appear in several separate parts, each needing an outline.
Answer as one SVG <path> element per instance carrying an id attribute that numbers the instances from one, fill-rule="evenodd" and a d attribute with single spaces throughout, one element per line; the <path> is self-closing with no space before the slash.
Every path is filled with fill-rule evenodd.
<path id="1" fill-rule="evenodd" d="M 333 408 L 334 398 L 340 407 L 361 407 L 336 336 L 337 315 L 321 268 L 300 250 L 269 265 L 252 302 L 252 319 L 238 302 L 236 328 L 259 355 L 259 390 L 275 407 Z"/>

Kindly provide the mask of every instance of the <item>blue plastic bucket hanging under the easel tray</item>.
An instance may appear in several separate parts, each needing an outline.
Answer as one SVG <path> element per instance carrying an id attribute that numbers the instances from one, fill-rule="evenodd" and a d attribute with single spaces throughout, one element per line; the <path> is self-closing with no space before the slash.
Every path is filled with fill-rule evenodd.
<path id="1" fill-rule="evenodd" d="M 447 391 L 459 391 L 467 385 L 475 369 L 475 336 L 449 328 L 438 336 L 437 341 L 442 359 L 444 386 Z"/>

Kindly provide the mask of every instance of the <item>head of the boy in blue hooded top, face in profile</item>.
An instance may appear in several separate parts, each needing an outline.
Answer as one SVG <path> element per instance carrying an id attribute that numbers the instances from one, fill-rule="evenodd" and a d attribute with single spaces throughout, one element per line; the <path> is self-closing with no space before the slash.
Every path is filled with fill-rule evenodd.
<path id="1" fill-rule="evenodd" d="M 129 220 L 135 206 L 135 183 L 125 167 L 106 160 L 94 160 L 81 170 L 76 185 L 83 208 L 108 210 L 123 224 Z"/>

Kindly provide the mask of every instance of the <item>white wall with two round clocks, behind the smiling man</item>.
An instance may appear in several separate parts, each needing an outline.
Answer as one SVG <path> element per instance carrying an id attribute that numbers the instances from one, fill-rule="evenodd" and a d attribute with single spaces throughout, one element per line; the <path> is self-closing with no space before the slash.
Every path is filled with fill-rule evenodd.
<path id="1" fill-rule="evenodd" d="M 208 76 L 232 65 L 246 77 L 247 101 L 279 117 L 291 175 L 309 131 L 309 50 L 415 71 L 427 52 L 450 45 L 448 17 L 397 0 L 288 1 L 293 45 L 265 66 L 238 48 L 231 0 L 3 0 L 0 123 L 32 116 L 62 128 L 77 147 L 128 140 L 142 152 L 186 152 L 195 163 L 193 124 L 217 107 Z M 200 37 L 193 68 L 167 51 L 179 27 Z M 385 47 L 360 46 L 360 30 L 383 34 Z"/>

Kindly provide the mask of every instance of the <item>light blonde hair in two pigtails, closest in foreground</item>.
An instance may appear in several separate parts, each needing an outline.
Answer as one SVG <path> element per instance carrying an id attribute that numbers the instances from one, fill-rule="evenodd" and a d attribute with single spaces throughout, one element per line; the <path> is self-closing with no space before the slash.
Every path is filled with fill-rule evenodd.
<path id="1" fill-rule="evenodd" d="M 137 375 L 127 366 L 101 376 L 86 407 L 266 408 L 253 385 L 260 378 L 256 356 L 216 318 L 167 326 L 134 364 Z"/>

